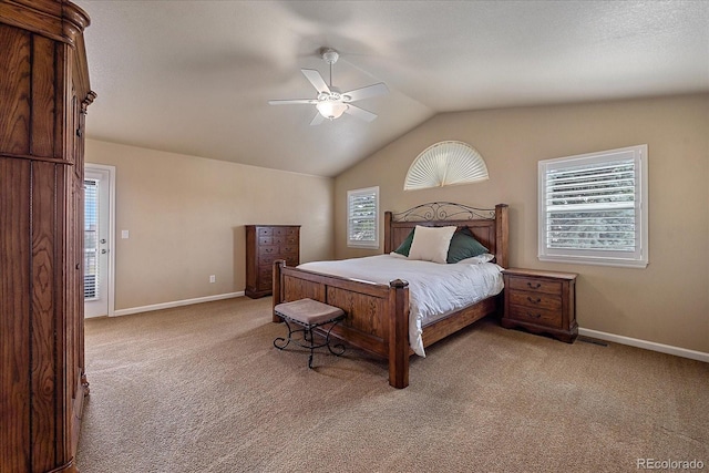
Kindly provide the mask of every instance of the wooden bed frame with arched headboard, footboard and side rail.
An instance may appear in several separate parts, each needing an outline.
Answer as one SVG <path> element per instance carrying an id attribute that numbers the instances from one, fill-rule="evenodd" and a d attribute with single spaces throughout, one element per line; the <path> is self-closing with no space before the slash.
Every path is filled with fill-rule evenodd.
<path id="1" fill-rule="evenodd" d="M 384 214 L 384 254 L 389 254 L 417 225 L 469 227 L 475 238 L 507 267 L 507 205 L 479 209 L 452 203 L 423 204 L 399 214 Z M 388 286 L 329 276 L 274 263 L 274 307 L 280 302 L 310 298 L 339 307 L 347 318 L 330 333 L 389 361 L 389 384 L 409 385 L 409 287 L 404 280 Z M 500 297 L 491 297 L 423 327 L 428 347 L 481 318 L 497 312 Z M 274 315 L 274 322 L 281 319 Z"/>

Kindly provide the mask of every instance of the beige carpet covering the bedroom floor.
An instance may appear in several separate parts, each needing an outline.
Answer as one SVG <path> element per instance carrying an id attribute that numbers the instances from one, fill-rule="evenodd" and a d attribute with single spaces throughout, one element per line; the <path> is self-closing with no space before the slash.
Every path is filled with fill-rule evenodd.
<path id="1" fill-rule="evenodd" d="M 709 469 L 709 364 L 482 320 L 413 357 L 410 387 L 349 349 L 279 351 L 270 299 L 86 321 L 82 473 Z"/>

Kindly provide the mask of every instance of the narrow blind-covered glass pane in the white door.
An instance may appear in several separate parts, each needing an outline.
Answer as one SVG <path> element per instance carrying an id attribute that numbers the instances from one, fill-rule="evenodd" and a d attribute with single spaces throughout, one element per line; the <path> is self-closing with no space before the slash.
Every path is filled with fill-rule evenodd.
<path id="1" fill-rule="evenodd" d="M 84 179 L 84 299 L 99 297 L 99 182 Z"/>

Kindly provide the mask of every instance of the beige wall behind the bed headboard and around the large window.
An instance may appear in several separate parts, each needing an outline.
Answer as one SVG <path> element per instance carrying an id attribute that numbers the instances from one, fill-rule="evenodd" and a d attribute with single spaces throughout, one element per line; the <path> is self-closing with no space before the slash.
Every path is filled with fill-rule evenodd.
<path id="1" fill-rule="evenodd" d="M 579 274 L 580 327 L 709 352 L 709 94 L 436 115 L 336 178 L 337 258 L 348 189 L 380 186 L 381 209 L 432 200 L 510 205 L 511 266 Z M 402 191 L 411 162 L 444 140 L 473 145 L 490 181 Z M 537 259 L 537 162 L 648 144 L 649 266 L 626 269 Z M 381 249 L 380 249 L 381 251 Z"/>

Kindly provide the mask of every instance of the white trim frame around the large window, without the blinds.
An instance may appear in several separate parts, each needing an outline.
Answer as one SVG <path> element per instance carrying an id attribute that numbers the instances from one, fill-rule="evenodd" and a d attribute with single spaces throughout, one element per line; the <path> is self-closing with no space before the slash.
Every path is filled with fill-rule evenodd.
<path id="1" fill-rule="evenodd" d="M 552 168 L 572 168 L 593 163 L 608 163 L 634 161 L 635 165 L 635 251 L 618 251 L 603 249 L 575 249 L 547 247 L 547 209 L 546 209 L 546 177 Z M 558 157 L 538 162 L 538 254 L 541 261 L 574 263 L 586 265 L 603 265 L 630 268 L 645 268 L 648 265 L 648 172 L 647 144 L 587 153 L 575 156 Z"/>

